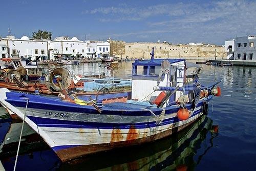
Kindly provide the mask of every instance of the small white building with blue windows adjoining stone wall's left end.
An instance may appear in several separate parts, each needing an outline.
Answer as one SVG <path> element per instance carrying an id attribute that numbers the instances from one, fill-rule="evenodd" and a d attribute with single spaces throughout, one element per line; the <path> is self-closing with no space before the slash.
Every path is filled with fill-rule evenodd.
<path id="1" fill-rule="evenodd" d="M 109 57 L 110 42 L 87 40 L 87 54 L 91 58 Z"/>

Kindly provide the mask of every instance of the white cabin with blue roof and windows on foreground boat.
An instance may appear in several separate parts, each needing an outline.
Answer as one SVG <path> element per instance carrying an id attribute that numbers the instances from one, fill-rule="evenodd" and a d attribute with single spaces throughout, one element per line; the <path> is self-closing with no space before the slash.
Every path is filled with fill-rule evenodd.
<path id="1" fill-rule="evenodd" d="M 149 101 L 161 93 L 153 90 L 156 86 L 183 87 L 185 59 L 154 59 L 154 49 L 152 56 L 150 60 L 135 60 L 132 64 L 132 99 Z M 177 100 L 181 93 L 177 91 L 169 100 Z"/>

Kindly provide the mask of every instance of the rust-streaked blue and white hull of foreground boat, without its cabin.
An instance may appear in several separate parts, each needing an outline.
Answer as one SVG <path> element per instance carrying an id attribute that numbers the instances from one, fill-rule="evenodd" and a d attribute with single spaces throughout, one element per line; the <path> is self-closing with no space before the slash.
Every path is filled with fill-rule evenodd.
<path id="1" fill-rule="evenodd" d="M 150 111 L 144 106 L 144 109 L 136 111 L 130 109 L 134 104 L 114 103 L 119 109 L 113 110 L 114 104 L 109 106 L 105 104 L 102 113 L 98 113 L 92 106 L 79 106 L 67 102 L 59 102 L 56 105 L 54 101 L 45 101 L 40 105 L 35 101 L 42 101 L 44 98 L 34 95 L 24 97 L 16 93 L 18 96 L 11 99 L 10 96 L 14 93 L 8 94 L 6 90 L 0 89 L 1 103 L 21 119 L 24 119 L 26 113 L 25 121 L 49 144 L 63 162 L 79 156 L 138 145 L 172 135 L 196 121 L 202 115 L 203 101 L 210 99 L 200 100 L 194 113 L 187 120 L 181 121 L 177 118 L 178 106 L 166 108 L 163 114 L 162 109 Z M 29 102 L 26 109 L 27 98 Z"/>

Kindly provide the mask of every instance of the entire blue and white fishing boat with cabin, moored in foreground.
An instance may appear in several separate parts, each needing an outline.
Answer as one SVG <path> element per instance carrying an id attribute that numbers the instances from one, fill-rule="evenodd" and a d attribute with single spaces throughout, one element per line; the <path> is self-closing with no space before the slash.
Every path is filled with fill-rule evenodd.
<path id="1" fill-rule="evenodd" d="M 186 76 L 185 59 L 154 59 L 154 48 L 151 54 L 151 60 L 132 65 L 133 100 L 80 105 L 0 89 L 0 102 L 25 119 L 63 162 L 155 141 L 206 114 L 208 101 L 220 95 L 215 87 L 220 81 L 202 86 L 197 73 Z"/>

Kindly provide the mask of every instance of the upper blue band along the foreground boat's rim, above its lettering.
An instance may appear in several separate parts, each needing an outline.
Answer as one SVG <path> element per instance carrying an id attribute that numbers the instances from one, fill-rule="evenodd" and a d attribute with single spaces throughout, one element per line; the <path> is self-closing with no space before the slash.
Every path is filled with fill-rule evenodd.
<path id="1" fill-rule="evenodd" d="M 8 98 L 6 99 L 7 102 L 12 104 L 16 107 L 26 107 L 27 100 L 20 97 L 21 93 L 6 93 Z M 16 94 L 16 95 L 15 95 Z M 71 113 L 90 113 L 90 114 L 98 114 L 93 106 L 88 105 L 79 105 L 70 102 L 63 102 L 60 100 L 48 99 L 45 97 L 34 97 L 35 95 L 26 94 L 29 98 L 28 108 L 31 109 L 43 109 L 43 110 L 53 110 L 53 111 L 63 111 L 63 112 L 71 112 Z M 211 97 L 209 96 L 207 101 Z M 198 106 L 201 106 L 203 101 L 198 103 Z M 186 104 L 187 109 L 191 109 L 191 104 Z M 151 116 L 150 111 L 142 110 L 146 108 L 145 105 L 138 105 L 138 104 L 128 104 L 128 103 L 109 103 L 105 104 L 105 107 L 102 108 L 102 115 L 120 115 L 120 116 Z M 154 108 L 151 109 L 155 115 L 160 115 L 162 109 Z M 165 113 L 176 113 L 178 112 L 179 108 L 177 106 L 167 106 L 165 108 Z"/>

